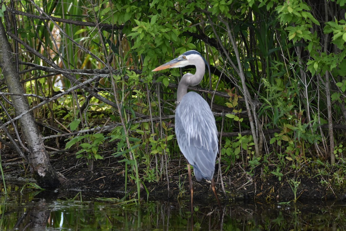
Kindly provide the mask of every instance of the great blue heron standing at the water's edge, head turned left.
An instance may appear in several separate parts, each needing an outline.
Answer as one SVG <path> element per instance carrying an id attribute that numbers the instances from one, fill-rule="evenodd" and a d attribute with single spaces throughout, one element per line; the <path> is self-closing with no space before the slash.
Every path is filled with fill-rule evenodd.
<path id="1" fill-rule="evenodd" d="M 206 100 L 196 92 L 188 92 L 188 86 L 201 82 L 209 64 L 197 51 L 187 51 L 157 68 L 180 68 L 187 65 L 196 67 L 195 74 L 186 73 L 181 78 L 177 90 L 178 106 L 175 110 L 175 134 L 179 148 L 188 161 L 189 183 L 191 192 L 191 213 L 193 211 L 193 186 L 191 168 L 198 181 L 210 180 L 211 187 L 220 206 L 213 179 L 215 159 L 218 152 L 218 134 L 215 118 Z"/>

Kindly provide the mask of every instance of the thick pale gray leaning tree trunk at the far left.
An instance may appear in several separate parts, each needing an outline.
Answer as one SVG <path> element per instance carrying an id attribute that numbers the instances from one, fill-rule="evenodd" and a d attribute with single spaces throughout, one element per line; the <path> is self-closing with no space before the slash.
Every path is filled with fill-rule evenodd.
<path id="1" fill-rule="evenodd" d="M 7 82 L 8 91 L 20 95 L 24 94 L 24 89 L 19 81 L 16 66 L 13 64 L 13 57 L 14 54 L 11 52 L 5 29 L 3 24 L 0 23 L 0 68 Z M 20 115 L 30 109 L 26 97 L 11 95 L 11 99 L 16 115 Z M 41 187 L 58 187 L 60 180 L 49 162 L 33 114 L 24 114 L 19 118 L 19 123 L 29 150 L 27 154 L 29 165 L 38 184 Z"/>

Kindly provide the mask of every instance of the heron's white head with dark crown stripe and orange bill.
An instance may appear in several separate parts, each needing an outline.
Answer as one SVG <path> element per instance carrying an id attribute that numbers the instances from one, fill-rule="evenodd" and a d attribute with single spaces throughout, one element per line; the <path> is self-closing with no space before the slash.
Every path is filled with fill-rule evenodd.
<path id="1" fill-rule="evenodd" d="M 162 64 L 161 66 L 155 68 L 152 71 L 161 71 L 167 68 L 181 68 L 183 66 L 188 65 L 200 65 L 201 62 L 206 63 L 209 68 L 207 61 L 203 58 L 203 56 L 197 51 L 186 51 L 183 54 L 179 55 L 179 57 Z"/>

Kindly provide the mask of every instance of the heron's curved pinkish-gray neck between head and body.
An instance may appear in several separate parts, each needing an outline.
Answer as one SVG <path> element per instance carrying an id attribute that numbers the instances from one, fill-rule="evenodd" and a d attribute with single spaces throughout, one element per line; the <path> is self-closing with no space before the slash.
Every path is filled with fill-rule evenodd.
<path id="1" fill-rule="evenodd" d="M 181 101 L 184 95 L 188 93 L 189 86 L 197 85 L 202 81 L 204 72 L 206 71 L 206 66 L 204 65 L 204 61 L 201 61 L 203 65 L 198 65 L 195 74 L 184 74 L 183 78 L 181 78 L 176 94 L 176 100 L 178 103 Z"/>

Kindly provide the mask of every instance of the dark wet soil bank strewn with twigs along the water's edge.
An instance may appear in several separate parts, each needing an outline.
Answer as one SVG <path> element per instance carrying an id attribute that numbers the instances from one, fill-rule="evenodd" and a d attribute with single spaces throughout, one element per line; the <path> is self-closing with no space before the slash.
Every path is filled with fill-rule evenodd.
<path id="1" fill-rule="evenodd" d="M 59 189 L 63 197 L 71 198 L 79 192 L 83 195 L 93 197 L 118 197 L 125 196 L 125 177 L 127 177 L 126 192 L 127 197 L 137 198 L 137 184 L 130 174 L 125 174 L 124 158 L 114 158 L 113 151 L 100 153 L 103 160 L 93 162 L 91 171 L 85 159 L 76 159 L 75 151 L 69 153 L 57 153 L 50 155 L 50 160 L 57 172 L 65 177 L 65 182 Z M 120 162 L 119 162 L 120 161 Z M 6 180 L 20 180 L 32 182 L 30 170 L 24 159 L 18 158 L 16 153 L 10 150 L 2 152 L 2 167 Z M 221 166 L 224 169 L 226 166 Z M 274 167 L 273 167 L 274 168 Z M 263 166 L 254 169 L 243 169 L 235 165 L 228 171 L 227 175 L 221 177 L 215 171 L 215 182 L 220 201 L 228 202 L 240 201 L 263 201 L 263 202 L 287 202 L 294 199 L 292 190 L 292 179 L 300 181 L 297 189 L 298 201 L 331 201 L 345 198 L 344 187 L 333 185 L 330 179 L 323 174 L 318 174 L 318 169 L 313 165 L 303 165 L 299 170 L 287 171 L 279 180 L 274 174 L 269 173 L 275 169 L 264 170 Z M 168 180 L 165 174 L 158 176 L 160 180 L 149 182 L 145 177 L 144 169 L 139 169 L 139 177 L 142 178 L 140 184 L 140 196 L 143 199 L 179 201 L 189 200 L 189 180 L 186 169 L 186 162 L 183 157 L 179 160 L 172 159 L 168 164 Z M 249 174 L 251 172 L 251 174 Z M 267 172 L 267 173 L 266 173 Z M 285 172 L 285 171 L 282 171 Z M 333 175 L 333 172 L 330 173 Z M 291 184 L 290 184 L 291 180 Z M 328 184 L 329 182 L 329 184 Z M 215 202 L 210 182 L 203 180 L 198 182 L 193 177 L 194 203 L 205 204 Z M 148 192 L 148 193 L 147 193 Z"/>

